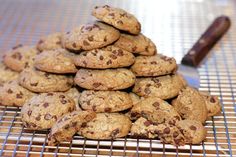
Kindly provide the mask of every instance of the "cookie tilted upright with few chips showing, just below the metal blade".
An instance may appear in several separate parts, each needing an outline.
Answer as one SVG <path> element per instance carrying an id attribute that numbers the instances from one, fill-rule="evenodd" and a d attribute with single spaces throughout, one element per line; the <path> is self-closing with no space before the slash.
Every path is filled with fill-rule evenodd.
<path id="1" fill-rule="evenodd" d="M 183 88 L 178 97 L 172 101 L 175 110 L 183 119 L 197 120 L 205 123 L 207 118 L 206 102 L 194 88 Z"/>

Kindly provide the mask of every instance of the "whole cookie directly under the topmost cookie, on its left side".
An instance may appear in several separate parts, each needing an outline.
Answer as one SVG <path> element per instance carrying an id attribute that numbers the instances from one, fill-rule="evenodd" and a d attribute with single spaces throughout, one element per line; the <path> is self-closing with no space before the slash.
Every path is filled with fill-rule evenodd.
<path id="1" fill-rule="evenodd" d="M 77 27 L 62 36 L 63 46 L 69 50 L 92 50 L 107 46 L 120 37 L 115 28 L 101 22 Z"/>

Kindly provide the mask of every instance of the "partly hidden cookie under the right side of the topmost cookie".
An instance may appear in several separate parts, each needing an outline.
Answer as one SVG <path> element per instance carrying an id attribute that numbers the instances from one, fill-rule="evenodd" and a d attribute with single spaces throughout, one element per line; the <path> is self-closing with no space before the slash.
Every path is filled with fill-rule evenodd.
<path id="1" fill-rule="evenodd" d="M 121 33 L 119 40 L 114 45 L 126 51 L 145 56 L 153 56 L 157 53 L 155 44 L 142 33 L 138 35 Z"/>

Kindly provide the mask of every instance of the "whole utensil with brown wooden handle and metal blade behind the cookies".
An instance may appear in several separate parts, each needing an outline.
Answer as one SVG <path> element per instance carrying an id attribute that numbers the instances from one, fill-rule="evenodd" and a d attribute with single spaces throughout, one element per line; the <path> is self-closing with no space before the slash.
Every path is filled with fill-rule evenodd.
<path id="1" fill-rule="evenodd" d="M 190 86 L 199 88 L 200 79 L 197 68 L 217 41 L 227 32 L 230 25 L 228 16 L 217 17 L 182 58 L 181 64 L 178 65 L 178 73 L 184 76 Z"/>

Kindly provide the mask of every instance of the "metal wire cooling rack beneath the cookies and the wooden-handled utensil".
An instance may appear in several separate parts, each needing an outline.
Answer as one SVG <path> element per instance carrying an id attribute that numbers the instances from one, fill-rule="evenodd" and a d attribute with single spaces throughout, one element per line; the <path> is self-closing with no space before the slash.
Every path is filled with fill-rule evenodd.
<path id="1" fill-rule="evenodd" d="M 20 108 L 0 106 L 0 156 L 236 156 L 236 2 L 230 0 L 0 0 L 0 52 L 16 44 L 33 45 L 40 36 L 67 31 L 94 20 L 98 4 L 122 7 L 137 16 L 142 32 L 159 52 L 177 62 L 211 21 L 230 16 L 232 27 L 198 68 L 201 91 L 216 95 L 222 113 L 206 122 L 207 138 L 199 145 L 174 147 L 159 140 L 119 138 L 112 141 L 84 139 L 47 145 L 48 131 L 21 126 Z"/>

